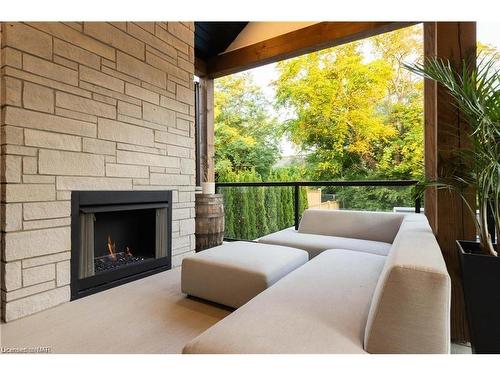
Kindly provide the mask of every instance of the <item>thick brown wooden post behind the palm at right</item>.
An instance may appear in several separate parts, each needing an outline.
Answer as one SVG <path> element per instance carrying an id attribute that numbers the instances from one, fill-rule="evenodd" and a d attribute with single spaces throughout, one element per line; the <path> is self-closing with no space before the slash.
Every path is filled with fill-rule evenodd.
<path id="1" fill-rule="evenodd" d="M 475 56 L 475 22 L 426 22 L 424 24 L 424 56 L 449 59 L 455 66 Z M 429 179 L 445 176 L 457 149 L 470 147 L 466 128 L 448 92 L 435 82 L 424 83 L 425 172 Z M 475 194 L 469 202 L 475 207 Z M 427 215 L 443 252 L 452 280 L 451 337 L 457 342 L 469 341 L 463 299 L 460 264 L 455 241 L 474 239 L 472 218 L 457 194 L 428 189 L 425 195 Z"/>

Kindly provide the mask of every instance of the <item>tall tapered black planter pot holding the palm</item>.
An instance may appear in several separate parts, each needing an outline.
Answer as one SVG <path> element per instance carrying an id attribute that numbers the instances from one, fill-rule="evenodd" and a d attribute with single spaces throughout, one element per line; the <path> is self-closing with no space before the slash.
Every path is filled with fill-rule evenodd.
<path id="1" fill-rule="evenodd" d="M 500 257 L 481 253 L 478 242 L 457 241 L 472 351 L 500 353 Z"/>

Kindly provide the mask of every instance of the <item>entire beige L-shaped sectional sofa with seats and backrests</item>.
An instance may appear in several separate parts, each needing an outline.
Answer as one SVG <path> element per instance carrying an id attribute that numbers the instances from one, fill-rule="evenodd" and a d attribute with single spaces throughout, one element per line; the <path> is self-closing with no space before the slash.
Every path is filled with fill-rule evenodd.
<path id="1" fill-rule="evenodd" d="M 184 353 L 449 352 L 450 278 L 425 216 L 307 210 L 261 241 L 313 259 Z"/>

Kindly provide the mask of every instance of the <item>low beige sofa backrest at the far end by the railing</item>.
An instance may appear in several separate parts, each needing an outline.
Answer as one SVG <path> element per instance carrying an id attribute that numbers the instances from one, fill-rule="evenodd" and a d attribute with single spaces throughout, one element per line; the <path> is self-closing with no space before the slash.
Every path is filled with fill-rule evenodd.
<path id="1" fill-rule="evenodd" d="M 299 233 L 392 243 L 403 218 L 403 214 L 392 212 L 308 209 L 302 215 Z"/>

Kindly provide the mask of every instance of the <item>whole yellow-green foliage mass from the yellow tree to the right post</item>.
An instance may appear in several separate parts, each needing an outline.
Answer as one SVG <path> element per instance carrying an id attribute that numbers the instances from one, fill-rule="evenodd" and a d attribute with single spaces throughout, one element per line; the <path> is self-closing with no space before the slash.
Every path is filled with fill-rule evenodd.
<path id="1" fill-rule="evenodd" d="M 309 178 L 422 175 L 422 80 L 402 66 L 418 47 L 412 27 L 278 64 L 277 106 L 291 114 L 286 130 L 309 155 Z"/>

